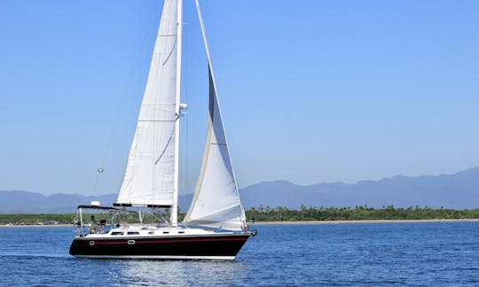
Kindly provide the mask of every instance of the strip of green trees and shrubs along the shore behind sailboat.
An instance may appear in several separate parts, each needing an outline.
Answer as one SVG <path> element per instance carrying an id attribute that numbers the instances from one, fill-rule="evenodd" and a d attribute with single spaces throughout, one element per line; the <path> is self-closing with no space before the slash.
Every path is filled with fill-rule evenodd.
<path id="1" fill-rule="evenodd" d="M 288 209 L 286 206 L 259 206 L 247 210 L 247 219 L 255 221 L 366 221 L 366 220 L 429 220 L 429 219 L 479 219 L 479 208 L 472 210 L 454 210 L 446 208 L 433 209 L 426 207 L 395 208 L 383 206 L 372 208 L 367 206 L 350 207 L 306 207 Z M 90 213 L 83 215 L 83 220 L 88 222 Z M 164 218 L 169 218 L 168 210 L 162 213 Z M 97 221 L 109 221 L 107 213 L 95 213 Z M 182 221 L 185 213 L 178 214 L 178 221 Z M 67 214 L 0 214 L 0 224 L 72 224 L 75 213 Z M 137 223 L 136 213 L 122 213 L 116 221 Z M 145 213 L 146 223 L 161 222 L 160 216 Z"/>

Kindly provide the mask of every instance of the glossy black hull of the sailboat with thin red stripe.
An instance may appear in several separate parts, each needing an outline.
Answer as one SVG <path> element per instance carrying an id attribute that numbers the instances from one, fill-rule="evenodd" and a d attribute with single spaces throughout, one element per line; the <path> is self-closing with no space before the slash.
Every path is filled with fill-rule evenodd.
<path id="1" fill-rule="evenodd" d="M 233 260 L 249 236 L 75 237 L 70 254 L 89 258 Z"/>

